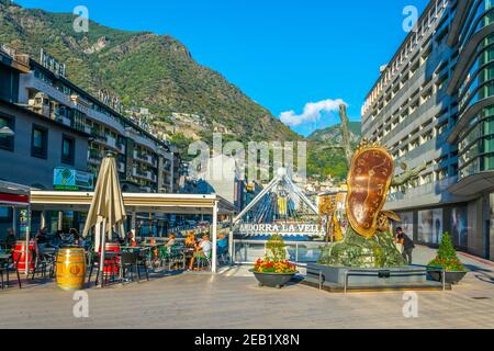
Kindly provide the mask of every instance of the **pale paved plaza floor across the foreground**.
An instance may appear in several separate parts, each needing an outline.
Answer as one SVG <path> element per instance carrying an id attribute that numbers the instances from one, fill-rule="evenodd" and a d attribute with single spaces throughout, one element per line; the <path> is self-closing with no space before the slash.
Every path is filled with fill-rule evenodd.
<path id="1" fill-rule="evenodd" d="M 417 263 L 433 256 L 416 250 Z M 460 285 L 417 293 L 417 318 L 404 317 L 403 292 L 271 290 L 258 287 L 246 268 L 233 268 L 86 290 L 88 318 L 74 316 L 74 294 L 54 283 L 10 287 L 0 291 L 0 328 L 494 328 L 494 267 L 462 260 L 473 271 Z"/>

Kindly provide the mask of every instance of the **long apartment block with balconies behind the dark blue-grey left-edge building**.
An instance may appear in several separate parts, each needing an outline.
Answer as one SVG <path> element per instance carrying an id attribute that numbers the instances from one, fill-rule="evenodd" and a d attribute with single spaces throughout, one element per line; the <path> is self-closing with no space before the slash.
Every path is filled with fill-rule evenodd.
<path id="1" fill-rule="evenodd" d="M 3 54 L 9 52 L 18 55 L 4 47 Z M 78 165 L 81 171 L 97 174 L 102 158 L 112 152 L 124 191 L 178 191 L 179 158 L 172 145 L 124 116 L 115 98 L 104 93 L 96 98 L 74 84 L 65 77 L 65 66 L 46 53 L 40 61 L 24 55 L 24 63 L 15 78 L 15 104 L 88 136 L 87 163 Z"/>

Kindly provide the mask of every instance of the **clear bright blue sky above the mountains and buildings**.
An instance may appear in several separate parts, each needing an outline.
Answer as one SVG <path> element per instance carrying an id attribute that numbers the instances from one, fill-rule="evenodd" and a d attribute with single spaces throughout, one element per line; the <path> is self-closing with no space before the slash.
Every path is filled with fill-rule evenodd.
<path id="1" fill-rule="evenodd" d="M 16 0 L 26 8 L 71 12 L 122 30 L 169 34 L 202 65 L 251 99 L 283 114 L 297 133 L 337 123 L 341 99 L 359 121 L 366 94 L 406 36 L 403 10 L 427 0 Z M 305 116 L 319 118 L 294 125 Z M 292 111 L 292 112 L 290 112 Z M 312 113 L 311 113 L 312 112 Z M 300 122 L 300 121 L 299 121 Z"/>

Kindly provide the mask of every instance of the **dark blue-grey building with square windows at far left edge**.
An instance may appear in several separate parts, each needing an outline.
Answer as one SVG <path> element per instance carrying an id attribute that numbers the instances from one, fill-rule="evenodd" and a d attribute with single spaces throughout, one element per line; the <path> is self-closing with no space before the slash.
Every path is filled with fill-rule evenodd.
<path id="1" fill-rule="evenodd" d="M 0 134 L 0 180 L 53 189 L 55 169 L 87 169 L 90 136 L 19 104 L 29 57 L 11 54 L 0 50 L 0 128 L 5 131 Z"/>

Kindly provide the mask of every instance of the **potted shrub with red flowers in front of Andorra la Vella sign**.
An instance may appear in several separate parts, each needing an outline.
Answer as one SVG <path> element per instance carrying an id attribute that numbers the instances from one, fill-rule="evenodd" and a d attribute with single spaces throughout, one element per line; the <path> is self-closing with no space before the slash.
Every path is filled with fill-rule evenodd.
<path id="1" fill-rule="evenodd" d="M 259 286 L 283 287 L 295 274 L 296 265 L 287 260 L 283 238 L 273 235 L 266 246 L 266 257 L 257 260 L 251 270 Z"/>

